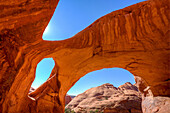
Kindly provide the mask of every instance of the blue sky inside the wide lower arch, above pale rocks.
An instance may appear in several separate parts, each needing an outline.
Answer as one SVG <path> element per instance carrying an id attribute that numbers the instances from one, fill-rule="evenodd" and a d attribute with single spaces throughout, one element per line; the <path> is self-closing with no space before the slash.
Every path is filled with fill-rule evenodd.
<path id="1" fill-rule="evenodd" d="M 134 76 L 127 70 L 122 68 L 107 68 L 93 71 L 80 78 L 79 81 L 68 91 L 69 95 L 77 95 L 83 93 L 87 89 L 100 86 L 105 83 L 111 83 L 115 87 L 119 87 L 126 82 L 135 83 Z"/>

